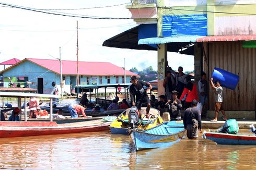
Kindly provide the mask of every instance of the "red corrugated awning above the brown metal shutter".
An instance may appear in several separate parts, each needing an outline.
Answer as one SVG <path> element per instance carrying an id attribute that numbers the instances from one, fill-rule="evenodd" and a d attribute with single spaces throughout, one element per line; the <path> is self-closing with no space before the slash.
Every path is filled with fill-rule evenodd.
<path id="1" fill-rule="evenodd" d="M 256 34 L 251 35 L 215 35 L 196 39 L 196 42 L 213 42 L 213 41 L 252 41 L 256 40 Z"/>

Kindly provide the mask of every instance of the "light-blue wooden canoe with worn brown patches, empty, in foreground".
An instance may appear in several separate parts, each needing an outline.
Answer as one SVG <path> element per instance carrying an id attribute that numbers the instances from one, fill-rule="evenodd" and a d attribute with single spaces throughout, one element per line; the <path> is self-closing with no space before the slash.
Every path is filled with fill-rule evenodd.
<path id="1" fill-rule="evenodd" d="M 184 136 L 185 129 L 182 121 L 165 122 L 151 129 L 133 130 L 131 137 L 136 151 L 160 147 L 170 147 L 180 141 Z"/>

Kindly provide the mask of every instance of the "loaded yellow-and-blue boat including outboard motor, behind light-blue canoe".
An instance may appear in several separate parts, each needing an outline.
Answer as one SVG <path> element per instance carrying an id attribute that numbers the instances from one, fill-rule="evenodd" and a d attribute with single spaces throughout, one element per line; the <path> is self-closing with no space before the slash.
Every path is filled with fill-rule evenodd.
<path id="1" fill-rule="evenodd" d="M 135 112 L 136 107 L 127 108 L 115 119 L 110 127 L 112 134 L 128 135 L 129 129 L 145 130 L 162 124 L 164 121 L 160 112 L 156 108 L 150 108 L 149 114 L 146 114 L 146 107 L 142 107 L 142 119 L 138 119 Z"/>

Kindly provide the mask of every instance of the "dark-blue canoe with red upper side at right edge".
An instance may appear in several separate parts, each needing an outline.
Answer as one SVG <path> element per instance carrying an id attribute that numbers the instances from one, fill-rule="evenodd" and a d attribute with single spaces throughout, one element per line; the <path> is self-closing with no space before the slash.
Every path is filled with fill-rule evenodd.
<path id="1" fill-rule="evenodd" d="M 212 140 L 218 144 L 256 145 L 256 136 L 254 133 L 229 134 L 204 132 L 203 138 Z"/>

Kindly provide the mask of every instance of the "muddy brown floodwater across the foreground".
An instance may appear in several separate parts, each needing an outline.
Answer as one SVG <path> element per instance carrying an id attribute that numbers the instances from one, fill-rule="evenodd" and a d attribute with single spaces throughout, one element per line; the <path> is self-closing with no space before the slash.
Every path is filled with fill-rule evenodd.
<path id="1" fill-rule="evenodd" d="M 254 169 L 255 153 L 201 137 L 135 152 L 129 136 L 102 131 L 0 139 L 0 169 Z"/>

